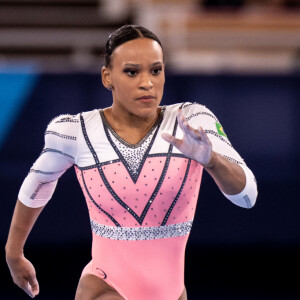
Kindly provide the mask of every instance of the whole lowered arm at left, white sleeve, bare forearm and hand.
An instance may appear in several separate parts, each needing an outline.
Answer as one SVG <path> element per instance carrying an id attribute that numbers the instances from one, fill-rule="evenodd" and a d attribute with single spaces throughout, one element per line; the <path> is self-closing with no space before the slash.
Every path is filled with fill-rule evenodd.
<path id="1" fill-rule="evenodd" d="M 15 284 L 32 298 L 39 293 L 33 265 L 24 245 L 41 211 L 51 199 L 59 177 L 75 163 L 79 121 L 62 115 L 50 122 L 45 146 L 23 181 L 6 244 L 6 261 Z"/>

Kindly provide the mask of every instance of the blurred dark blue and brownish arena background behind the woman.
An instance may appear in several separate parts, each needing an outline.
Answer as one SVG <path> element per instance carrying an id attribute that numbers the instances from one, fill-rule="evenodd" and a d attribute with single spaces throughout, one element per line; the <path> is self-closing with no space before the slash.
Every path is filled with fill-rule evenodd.
<path id="1" fill-rule="evenodd" d="M 299 0 L 0 0 L 0 299 L 28 298 L 11 281 L 4 245 L 46 126 L 110 106 L 103 49 L 130 23 L 165 47 L 163 104 L 211 109 L 258 181 L 246 210 L 204 174 L 186 251 L 189 300 L 300 299 Z M 90 248 L 85 200 L 68 170 L 25 248 L 37 299 L 74 299 Z"/>

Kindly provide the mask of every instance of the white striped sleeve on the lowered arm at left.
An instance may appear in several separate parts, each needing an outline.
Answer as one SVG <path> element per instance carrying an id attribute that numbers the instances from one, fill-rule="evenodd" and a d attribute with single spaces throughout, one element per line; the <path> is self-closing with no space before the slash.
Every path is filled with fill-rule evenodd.
<path id="1" fill-rule="evenodd" d="M 18 198 L 29 207 L 41 207 L 51 199 L 59 177 L 74 165 L 79 117 L 61 115 L 45 132 L 45 146 L 24 179 Z"/>

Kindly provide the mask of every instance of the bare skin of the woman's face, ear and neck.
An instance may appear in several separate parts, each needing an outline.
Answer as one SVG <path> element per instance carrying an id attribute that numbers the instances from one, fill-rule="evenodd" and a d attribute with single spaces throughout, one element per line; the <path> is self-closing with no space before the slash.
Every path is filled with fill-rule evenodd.
<path id="1" fill-rule="evenodd" d="M 121 138 L 140 141 L 158 118 L 165 73 L 160 45 L 139 38 L 117 47 L 112 66 L 102 68 L 102 82 L 112 89 L 113 104 L 104 115 Z M 153 96 L 150 100 L 140 97 Z"/>

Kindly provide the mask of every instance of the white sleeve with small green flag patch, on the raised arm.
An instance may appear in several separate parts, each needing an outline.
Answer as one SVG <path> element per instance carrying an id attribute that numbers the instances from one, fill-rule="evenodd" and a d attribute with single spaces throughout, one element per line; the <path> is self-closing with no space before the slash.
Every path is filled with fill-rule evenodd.
<path id="1" fill-rule="evenodd" d="M 192 127 L 199 128 L 201 126 L 205 130 L 212 142 L 213 151 L 229 161 L 237 163 L 245 172 L 246 185 L 242 192 L 237 195 L 227 195 L 223 191 L 221 192 L 227 199 L 238 206 L 253 207 L 257 198 L 255 177 L 238 152 L 232 147 L 217 117 L 208 108 L 198 103 L 185 103 L 182 111 Z"/>

